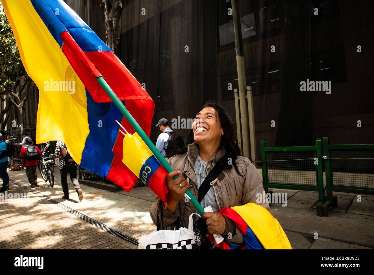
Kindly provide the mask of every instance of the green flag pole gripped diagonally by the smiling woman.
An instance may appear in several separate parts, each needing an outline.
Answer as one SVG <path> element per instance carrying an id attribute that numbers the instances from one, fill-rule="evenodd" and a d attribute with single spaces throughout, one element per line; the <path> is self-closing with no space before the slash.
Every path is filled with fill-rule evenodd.
<path id="1" fill-rule="evenodd" d="M 166 169 L 168 172 L 174 171 L 174 169 L 170 166 L 169 162 L 161 155 L 160 151 L 154 146 L 152 141 L 148 138 L 145 134 L 143 129 L 139 126 L 138 122 L 134 119 L 134 117 L 130 114 L 130 112 L 126 109 L 126 107 L 122 104 L 120 99 L 114 94 L 113 90 L 110 88 L 108 83 L 105 81 L 103 77 L 96 77 L 97 82 L 100 86 L 104 89 L 104 91 L 109 95 L 113 103 L 117 106 L 117 108 L 121 111 L 123 116 L 127 119 L 127 121 L 131 124 L 132 128 L 138 133 L 140 138 L 144 141 L 145 145 L 151 150 L 152 154 L 155 158 L 160 162 L 160 164 Z M 175 176 L 174 178 L 177 178 Z M 192 195 L 190 190 L 186 191 L 186 195 L 190 198 L 191 203 L 193 206 L 199 211 L 200 214 L 204 214 L 203 207 L 199 204 L 197 199 Z"/>

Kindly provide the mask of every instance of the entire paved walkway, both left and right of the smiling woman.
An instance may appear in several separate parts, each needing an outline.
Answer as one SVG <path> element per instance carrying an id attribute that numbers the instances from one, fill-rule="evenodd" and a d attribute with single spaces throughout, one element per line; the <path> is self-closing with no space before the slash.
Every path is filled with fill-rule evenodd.
<path id="1" fill-rule="evenodd" d="M 30 198 L 23 202 L 0 204 L 0 249 L 137 248 L 77 215 L 74 216 L 71 211 L 69 213 L 61 206 L 76 210 L 134 239 L 156 229 L 149 216 L 154 194 L 147 187 L 134 188 L 130 193 L 111 193 L 82 184 L 84 199 L 80 202 L 72 183 L 68 181 L 70 200 L 64 200 L 61 199 L 63 193 L 58 168 L 55 169 L 55 174 L 53 188 L 38 174 L 39 187 L 34 189 L 37 194 L 10 183 L 9 193 L 25 193 L 26 196 L 29 194 Z M 9 171 L 9 176 L 12 180 L 29 186 L 25 170 Z M 355 195 L 338 194 L 339 207 L 332 209 L 329 217 L 317 217 L 313 208 L 317 193 L 295 190 L 274 192 L 288 194 L 288 206 L 272 204 L 270 212 L 282 225 L 294 249 L 374 247 L 373 197 L 362 196 L 362 203 L 356 205 L 352 202 Z M 53 199 L 54 203 L 49 198 Z M 314 238 L 316 233 L 318 239 Z"/>

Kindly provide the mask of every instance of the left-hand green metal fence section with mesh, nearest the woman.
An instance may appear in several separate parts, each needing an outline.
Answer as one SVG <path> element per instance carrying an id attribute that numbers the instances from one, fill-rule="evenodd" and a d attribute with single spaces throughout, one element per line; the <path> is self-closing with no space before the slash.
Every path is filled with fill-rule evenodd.
<path id="1" fill-rule="evenodd" d="M 322 216 L 324 183 L 322 171 L 322 143 L 316 146 L 266 147 L 261 140 L 263 186 L 268 188 L 318 192 L 317 216 Z"/>

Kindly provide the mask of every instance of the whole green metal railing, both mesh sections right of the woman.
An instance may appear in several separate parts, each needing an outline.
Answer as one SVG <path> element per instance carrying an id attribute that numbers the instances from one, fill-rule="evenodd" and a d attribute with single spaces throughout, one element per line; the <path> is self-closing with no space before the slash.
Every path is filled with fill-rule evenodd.
<path id="1" fill-rule="evenodd" d="M 317 216 L 328 216 L 328 208 L 338 206 L 332 192 L 374 195 L 374 144 L 328 144 L 327 137 L 323 143 L 322 155 L 319 138 L 316 146 L 296 147 L 266 147 L 261 140 L 257 162 L 262 164 L 265 192 L 268 188 L 316 191 Z"/>

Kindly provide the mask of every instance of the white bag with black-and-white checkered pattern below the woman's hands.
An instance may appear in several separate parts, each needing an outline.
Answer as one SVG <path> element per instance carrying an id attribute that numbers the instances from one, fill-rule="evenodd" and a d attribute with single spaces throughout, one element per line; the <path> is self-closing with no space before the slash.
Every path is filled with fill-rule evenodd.
<path id="1" fill-rule="evenodd" d="M 154 230 L 147 236 L 139 239 L 138 249 L 193 249 L 200 245 L 196 242 L 193 232 L 193 215 L 188 220 L 188 228 L 180 227 L 178 230 Z"/>

